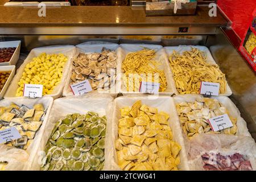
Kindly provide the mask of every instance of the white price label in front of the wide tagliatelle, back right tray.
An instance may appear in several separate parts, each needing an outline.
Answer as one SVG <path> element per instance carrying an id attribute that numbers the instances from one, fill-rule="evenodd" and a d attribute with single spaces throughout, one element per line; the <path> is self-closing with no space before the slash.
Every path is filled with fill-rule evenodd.
<path id="1" fill-rule="evenodd" d="M 220 90 L 219 83 L 212 82 L 201 82 L 200 86 L 200 94 L 209 95 L 209 96 L 218 96 L 218 92 Z"/>

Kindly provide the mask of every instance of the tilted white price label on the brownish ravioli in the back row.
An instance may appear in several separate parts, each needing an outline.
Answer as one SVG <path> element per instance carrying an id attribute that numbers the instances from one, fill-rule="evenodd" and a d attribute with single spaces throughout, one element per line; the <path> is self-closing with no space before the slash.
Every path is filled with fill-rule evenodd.
<path id="1" fill-rule="evenodd" d="M 92 91 L 89 80 L 84 80 L 79 83 L 70 85 L 70 88 L 75 96 L 80 96 Z"/>

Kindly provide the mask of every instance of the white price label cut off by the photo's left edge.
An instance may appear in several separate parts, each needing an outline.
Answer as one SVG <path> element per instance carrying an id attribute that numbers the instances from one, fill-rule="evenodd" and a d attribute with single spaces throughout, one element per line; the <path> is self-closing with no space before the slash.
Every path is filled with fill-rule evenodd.
<path id="1" fill-rule="evenodd" d="M 19 131 L 15 127 L 10 127 L 10 129 L 5 129 L 0 131 L 0 143 L 11 142 L 22 138 L 19 134 Z"/>

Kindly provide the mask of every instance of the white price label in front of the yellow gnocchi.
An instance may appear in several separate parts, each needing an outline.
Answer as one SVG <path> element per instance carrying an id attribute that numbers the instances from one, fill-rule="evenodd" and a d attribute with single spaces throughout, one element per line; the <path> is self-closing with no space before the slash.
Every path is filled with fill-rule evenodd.
<path id="1" fill-rule="evenodd" d="M 38 84 L 24 84 L 23 96 L 36 98 L 43 96 L 43 85 Z"/>

